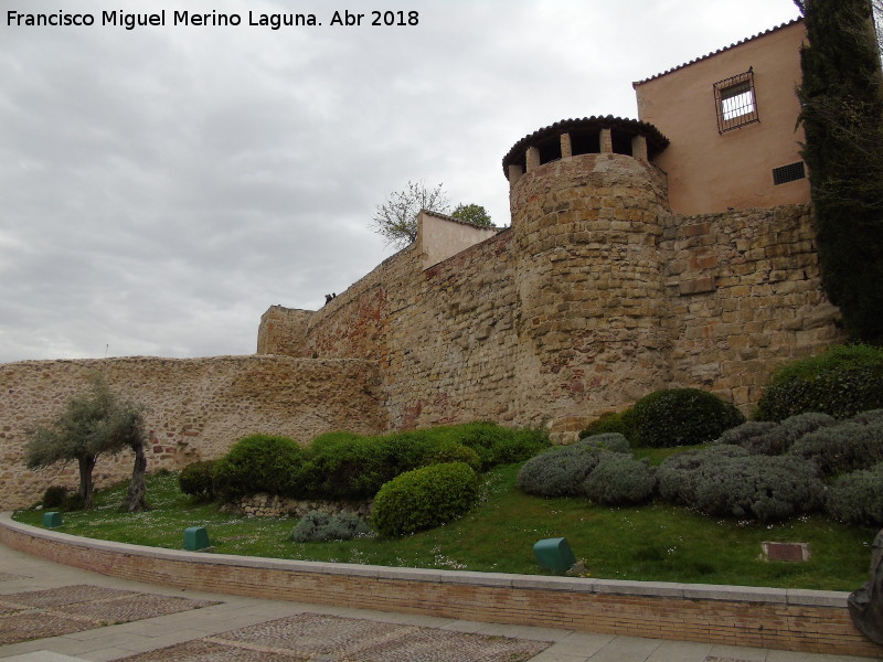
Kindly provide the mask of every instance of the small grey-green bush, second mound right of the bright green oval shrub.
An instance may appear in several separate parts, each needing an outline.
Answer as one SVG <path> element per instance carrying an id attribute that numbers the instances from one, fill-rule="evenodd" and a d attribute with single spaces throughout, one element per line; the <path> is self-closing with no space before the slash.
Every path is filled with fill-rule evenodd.
<path id="1" fill-rule="evenodd" d="M 656 472 L 647 461 L 610 451 L 602 451 L 598 466 L 583 483 L 586 496 L 607 505 L 643 503 L 655 489 Z"/>

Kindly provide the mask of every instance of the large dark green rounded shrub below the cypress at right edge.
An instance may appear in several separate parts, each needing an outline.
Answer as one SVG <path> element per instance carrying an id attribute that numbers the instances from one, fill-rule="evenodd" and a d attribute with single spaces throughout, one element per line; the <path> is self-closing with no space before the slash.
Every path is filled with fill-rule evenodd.
<path id="1" fill-rule="evenodd" d="M 781 420 L 822 412 L 842 419 L 883 407 L 883 348 L 840 345 L 773 374 L 756 418 Z"/>

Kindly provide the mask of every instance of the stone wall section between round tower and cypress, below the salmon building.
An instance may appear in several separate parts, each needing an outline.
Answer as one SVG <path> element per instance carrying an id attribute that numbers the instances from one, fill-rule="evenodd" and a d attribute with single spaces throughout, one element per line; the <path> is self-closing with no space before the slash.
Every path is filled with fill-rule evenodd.
<path id="1" fill-rule="evenodd" d="M 672 216 L 660 250 L 673 384 L 747 414 L 777 365 L 845 340 L 821 290 L 809 204 Z"/>

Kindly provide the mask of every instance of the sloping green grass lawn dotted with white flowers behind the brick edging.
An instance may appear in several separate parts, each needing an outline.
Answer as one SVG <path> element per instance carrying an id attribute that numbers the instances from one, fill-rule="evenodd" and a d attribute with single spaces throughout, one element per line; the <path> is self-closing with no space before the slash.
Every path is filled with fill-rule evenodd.
<path id="1" fill-rule="evenodd" d="M 138 545 L 181 548 L 183 530 L 206 526 L 215 551 L 306 560 L 543 574 L 533 544 L 565 536 L 593 577 L 783 588 L 854 590 L 868 578 L 875 531 L 823 515 L 763 525 L 708 517 L 653 503 L 605 508 L 585 499 L 540 499 L 515 487 L 519 466 L 485 476 L 482 500 L 470 514 L 439 528 L 382 540 L 294 543 L 295 519 L 246 519 L 196 504 L 178 489 L 177 474 L 148 480 L 148 513 L 117 512 L 125 485 L 96 494 L 96 508 L 64 513 L 57 531 Z M 41 525 L 41 511 L 14 519 Z M 760 559 L 764 541 L 809 543 L 807 563 Z"/>

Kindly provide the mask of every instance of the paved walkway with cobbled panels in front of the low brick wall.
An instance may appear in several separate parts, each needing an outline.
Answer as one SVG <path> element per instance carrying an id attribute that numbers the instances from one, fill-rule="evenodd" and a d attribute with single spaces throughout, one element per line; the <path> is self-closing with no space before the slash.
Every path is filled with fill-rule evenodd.
<path id="1" fill-rule="evenodd" d="M 34 636 L 41 638 L 21 641 Z M 868 660 L 181 590 L 78 570 L 0 545 L 0 642 L 10 641 L 19 643 L 0 644 L 0 658 L 10 662 Z"/>

